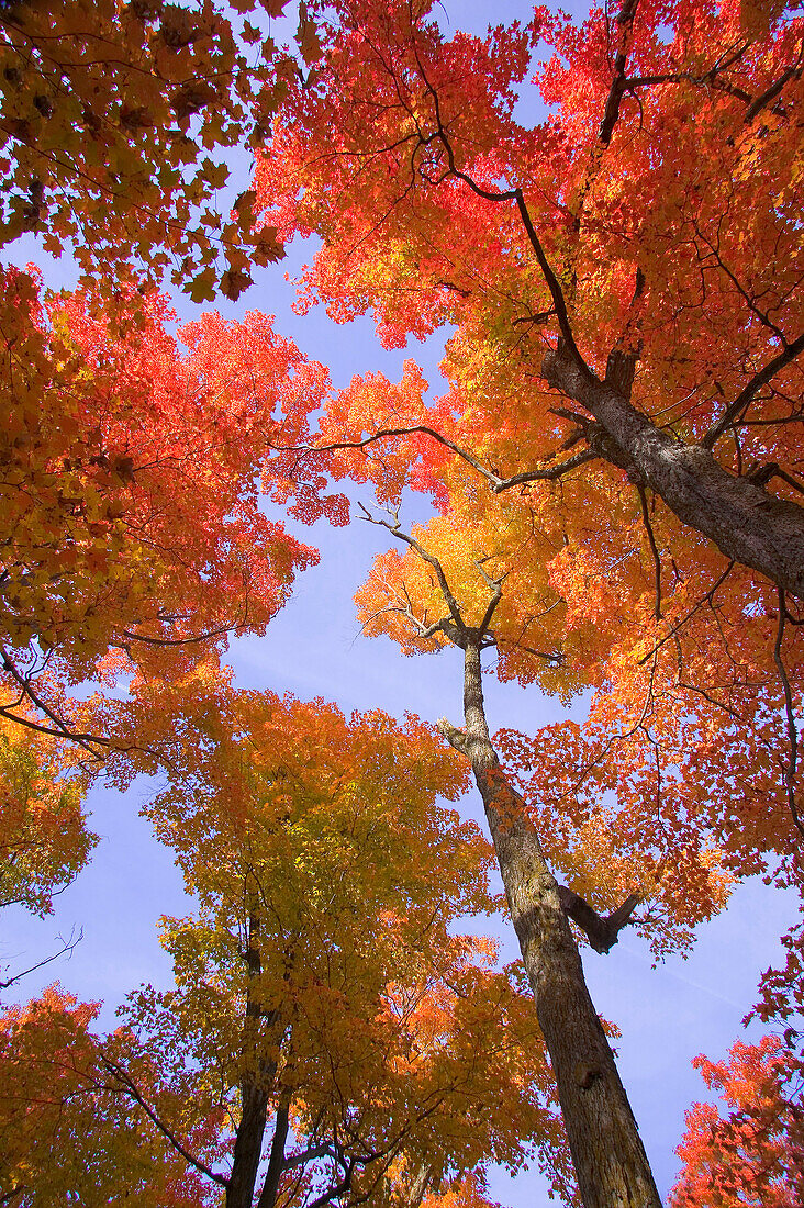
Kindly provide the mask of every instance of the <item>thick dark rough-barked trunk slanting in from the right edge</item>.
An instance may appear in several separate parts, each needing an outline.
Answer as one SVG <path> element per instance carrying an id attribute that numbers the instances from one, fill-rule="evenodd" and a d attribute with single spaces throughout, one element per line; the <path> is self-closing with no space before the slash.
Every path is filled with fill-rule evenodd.
<path id="1" fill-rule="evenodd" d="M 804 507 L 735 477 L 708 449 L 656 428 L 612 384 L 584 372 L 566 349 L 548 354 L 542 372 L 601 424 L 621 454 L 611 460 L 627 466 L 684 524 L 710 538 L 727 558 L 804 598 Z"/>

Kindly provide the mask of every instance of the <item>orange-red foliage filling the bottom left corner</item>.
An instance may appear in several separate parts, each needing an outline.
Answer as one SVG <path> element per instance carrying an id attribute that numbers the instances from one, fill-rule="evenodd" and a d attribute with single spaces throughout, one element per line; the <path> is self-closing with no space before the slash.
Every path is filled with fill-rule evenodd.
<path id="1" fill-rule="evenodd" d="M 58 986 L 0 1015 L 0 1195 L 5 1202 L 57 1208 L 132 1197 L 146 1208 L 214 1204 L 204 1184 L 144 1114 L 137 1115 L 114 1067 L 132 1058 L 118 1029 L 100 1044 L 91 1032 L 98 1004 L 76 1003 Z M 154 1069 L 132 1062 L 145 1093 Z M 201 1131 L 195 1138 L 201 1146 Z M 58 1154 L 58 1161 L 53 1155 Z"/>

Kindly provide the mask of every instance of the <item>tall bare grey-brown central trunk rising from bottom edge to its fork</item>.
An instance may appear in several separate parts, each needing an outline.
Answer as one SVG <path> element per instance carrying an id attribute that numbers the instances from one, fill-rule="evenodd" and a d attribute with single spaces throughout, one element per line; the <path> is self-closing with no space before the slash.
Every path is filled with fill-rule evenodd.
<path id="1" fill-rule="evenodd" d="M 520 795 L 488 737 L 479 644 L 464 661 L 465 732 L 511 919 L 559 1087 L 585 1208 L 661 1208 L 614 1057 L 595 1011 L 559 887 Z M 445 731 L 446 732 L 446 731 Z M 455 734 L 452 737 L 455 741 Z"/>

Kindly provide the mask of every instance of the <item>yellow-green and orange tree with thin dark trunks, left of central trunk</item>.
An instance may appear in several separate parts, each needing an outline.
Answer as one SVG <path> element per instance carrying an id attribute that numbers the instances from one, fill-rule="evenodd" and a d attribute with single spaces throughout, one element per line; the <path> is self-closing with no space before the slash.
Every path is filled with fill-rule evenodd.
<path id="1" fill-rule="evenodd" d="M 428 1189 L 449 1202 L 465 1172 L 480 1196 L 488 1161 L 514 1169 L 537 1148 L 569 1201 L 530 1003 L 488 941 L 455 934 L 492 902 L 486 844 L 435 801 L 463 788 L 451 753 L 413 718 L 347 722 L 212 673 L 150 703 L 172 772 L 148 813 L 197 902 L 164 922 L 175 989 L 132 995 L 126 1026 L 105 1041 L 82 1032 L 69 1063 L 58 1035 L 47 1050 L 42 1034 L 37 1057 L 30 1028 L 19 1053 L 15 1015 L 6 1110 L 34 1138 L 23 1152 L 41 1133 L 21 1080 L 51 1062 L 76 1080 L 65 1120 L 97 1113 L 102 1167 L 122 1146 L 126 1173 L 122 1113 L 170 1151 L 168 1174 L 178 1162 L 199 1181 L 197 1202 L 417 1208 Z M 47 1003 L 29 1011 L 39 1020 Z M 76 1011 L 59 1010 L 71 1027 Z M 80 1190 L 77 1173 L 62 1185 Z"/>

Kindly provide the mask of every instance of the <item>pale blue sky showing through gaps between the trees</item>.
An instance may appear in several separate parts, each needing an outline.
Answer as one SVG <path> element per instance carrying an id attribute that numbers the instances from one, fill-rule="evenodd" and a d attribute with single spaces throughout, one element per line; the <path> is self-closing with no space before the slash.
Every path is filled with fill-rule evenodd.
<path id="1" fill-rule="evenodd" d="M 446 5 L 445 28 L 449 17 L 456 27 L 482 31 L 488 11 L 487 2 L 453 0 Z M 526 6 L 503 2 L 496 6 L 493 17 L 509 19 L 524 13 Z M 305 245 L 294 248 L 288 261 L 262 272 L 242 302 L 221 306 L 221 313 L 238 316 L 245 309 L 261 309 L 276 314 L 277 330 L 293 337 L 311 358 L 329 365 L 336 387 L 346 385 L 353 373 L 372 368 L 399 378 L 403 360 L 412 355 L 423 365 L 434 393 L 439 393 L 440 342 L 387 353 L 380 348 L 369 319 L 340 327 L 320 309 L 303 318 L 290 312 L 295 288 L 284 274 L 308 254 Z M 69 265 L 48 267 L 47 257 L 30 244 L 16 245 L 10 259 L 16 263 L 40 262 L 47 284 L 69 281 Z M 198 313 L 184 301 L 179 306 L 184 318 Z M 368 495 L 363 498 L 371 503 Z M 416 507 L 416 518 L 421 518 L 421 501 Z M 369 641 L 359 632 L 352 596 L 374 554 L 386 547 L 382 532 L 357 521 L 346 529 L 319 523 L 312 530 L 297 530 L 302 539 L 318 545 L 320 565 L 299 579 L 290 603 L 264 639 L 232 643 L 237 683 L 290 691 L 302 698 L 323 696 L 347 713 L 382 708 L 395 715 L 412 710 L 429 721 L 441 715 L 459 721 L 459 651 L 404 658 L 389 641 Z M 511 726 L 530 731 L 565 715 L 557 702 L 545 699 L 534 689 L 501 685 L 491 676 L 486 687 L 492 730 Z M 99 786 L 92 795 L 92 825 L 103 838 L 91 867 L 56 899 L 52 918 L 40 922 L 21 911 L 4 916 L 0 962 L 13 968 L 52 951 L 58 933 L 66 935 L 74 925 L 83 929 L 71 959 L 30 975 L 18 987 L 19 998 L 35 994 L 58 977 L 81 999 L 103 1000 L 103 1021 L 114 1026 L 114 1009 L 126 993 L 140 982 L 166 983 L 169 978 L 156 922 L 161 914 L 185 913 L 187 905 L 169 852 L 155 843 L 148 823 L 138 817 L 148 794 L 146 782 L 138 782 L 123 796 Z M 462 808 L 479 818 L 472 795 Z M 751 883 L 738 889 L 727 912 L 701 928 L 698 945 L 686 962 L 672 958 L 652 969 L 647 947 L 627 930 L 609 956 L 584 953 L 597 1010 L 623 1034 L 617 1044 L 620 1071 L 663 1194 L 677 1168 L 673 1149 L 683 1131 L 684 1108 L 704 1097 L 704 1084 L 692 1069 L 690 1058 L 701 1051 L 721 1057 L 740 1034 L 740 1021 L 753 1003 L 758 976 L 780 957 L 777 936 L 794 913 L 789 896 Z M 513 958 L 515 948 L 503 923 L 499 934 Z M 549 1203 L 537 1172 L 521 1173 L 515 1180 L 501 1172 L 492 1179 L 491 1190 L 492 1196 L 511 1206 L 528 1203 L 539 1208 Z"/>

